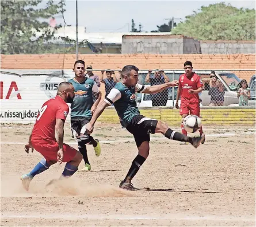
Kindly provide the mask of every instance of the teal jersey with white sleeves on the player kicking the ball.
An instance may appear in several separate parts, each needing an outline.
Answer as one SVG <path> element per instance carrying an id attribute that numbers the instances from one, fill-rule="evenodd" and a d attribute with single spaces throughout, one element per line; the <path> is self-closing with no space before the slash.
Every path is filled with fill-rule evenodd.
<path id="1" fill-rule="evenodd" d="M 136 104 L 135 92 L 142 92 L 146 89 L 144 85 L 136 84 L 135 87 L 127 87 L 123 83 L 117 83 L 105 98 L 106 103 L 116 108 L 120 121 L 126 126 L 136 115 L 140 114 Z"/>

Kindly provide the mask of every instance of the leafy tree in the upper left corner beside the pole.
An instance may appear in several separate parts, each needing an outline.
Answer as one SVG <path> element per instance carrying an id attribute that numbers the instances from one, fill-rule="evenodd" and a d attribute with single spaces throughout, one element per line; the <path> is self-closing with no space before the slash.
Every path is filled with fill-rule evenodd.
<path id="1" fill-rule="evenodd" d="M 42 19 L 54 18 L 62 12 L 64 1 L 48 1 L 44 9 L 38 9 L 43 2 L 1 1 L 1 53 L 45 53 L 49 49 L 47 41 L 54 39 L 55 30 L 61 25 L 50 28 Z"/>

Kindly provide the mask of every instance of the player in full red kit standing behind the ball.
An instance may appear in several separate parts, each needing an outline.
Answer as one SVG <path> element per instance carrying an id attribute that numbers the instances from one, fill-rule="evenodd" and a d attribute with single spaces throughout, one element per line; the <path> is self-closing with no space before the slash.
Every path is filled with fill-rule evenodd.
<path id="1" fill-rule="evenodd" d="M 183 120 L 188 115 L 200 116 L 200 99 L 198 93 L 202 92 L 202 81 L 200 76 L 194 73 L 192 62 L 186 61 L 184 63 L 185 73 L 179 76 L 179 88 L 177 92 L 177 99 L 175 107 L 179 108 L 179 114 L 182 116 L 181 130 L 182 134 L 187 135 L 183 127 Z M 181 96 L 181 107 L 179 107 L 178 100 Z M 202 126 L 200 127 L 200 136 L 204 134 Z M 201 143 L 204 143 L 205 139 Z"/>

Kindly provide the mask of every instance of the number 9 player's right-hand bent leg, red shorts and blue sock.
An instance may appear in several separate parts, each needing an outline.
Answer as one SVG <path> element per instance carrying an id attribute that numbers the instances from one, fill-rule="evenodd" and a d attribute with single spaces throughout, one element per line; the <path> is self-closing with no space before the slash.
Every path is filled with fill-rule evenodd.
<path id="1" fill-rule="evenodd" d="M 63 162 L 67 162 L 64 167 L 64 171 L 61 175 L 63 177 L 71 177 L 77 170 L 81 163 L 83 156 L 81 152 L 75 150 L 75 148 L 63 144 Z"/>

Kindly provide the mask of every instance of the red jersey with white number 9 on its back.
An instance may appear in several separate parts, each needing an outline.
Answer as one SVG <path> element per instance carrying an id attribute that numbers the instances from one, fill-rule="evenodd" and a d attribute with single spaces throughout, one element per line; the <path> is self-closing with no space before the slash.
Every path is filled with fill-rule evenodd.
<path id="1" fill-rule="evenodd" d="M 31 140 L 34 142 L 39 142 L 40 140 L 40 143 L 56 142 L 56 119 L 66 120 L 68 111 L 67 103 L 59 96 L 46 101 L 37 115 Z"/>

